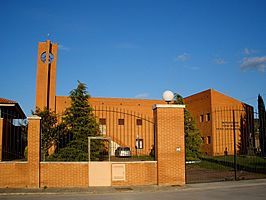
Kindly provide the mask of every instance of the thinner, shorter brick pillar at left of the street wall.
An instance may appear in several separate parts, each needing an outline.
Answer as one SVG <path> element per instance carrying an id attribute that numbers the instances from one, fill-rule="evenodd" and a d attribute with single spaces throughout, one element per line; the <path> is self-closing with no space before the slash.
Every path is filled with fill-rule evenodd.
<path id="1" fill-rule="evenodd" d="M 29 188 L 40 187 L 40 130 L 41 118 L 28 117 Z"/>

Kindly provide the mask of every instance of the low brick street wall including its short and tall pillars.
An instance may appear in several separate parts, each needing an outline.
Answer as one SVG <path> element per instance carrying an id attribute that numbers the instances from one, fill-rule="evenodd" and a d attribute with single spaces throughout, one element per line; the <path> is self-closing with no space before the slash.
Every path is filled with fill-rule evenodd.
<path id="1" fill-rule="evenodd" d="M 158 161 L 124 163 L 125 179 L 112 181 L 113 186 L 185 183 L 184 111 L 173 107 L 155 110 Z M 28 161 L 0 162 L 0 187 L 88 187 L 88 163 L 40 163 L 40 118 L 28 122 Z"/>

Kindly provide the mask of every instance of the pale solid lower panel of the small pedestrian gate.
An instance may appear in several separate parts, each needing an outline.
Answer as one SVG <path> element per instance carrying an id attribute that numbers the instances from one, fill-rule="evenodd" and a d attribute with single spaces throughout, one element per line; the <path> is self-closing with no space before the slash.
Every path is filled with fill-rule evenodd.
<path id="1" fill-rule="evenodd" d="M 111 186 L 111 162 L 89 162 L 89 186 Z"/>

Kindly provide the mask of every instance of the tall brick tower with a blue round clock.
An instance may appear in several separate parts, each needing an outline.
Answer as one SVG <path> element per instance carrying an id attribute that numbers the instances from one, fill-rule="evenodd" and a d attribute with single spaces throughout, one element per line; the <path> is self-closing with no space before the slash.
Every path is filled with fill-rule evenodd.
<path id="1" fill-rule="evenodd" d="M 36 108 L 41 110 L 55 111 L 57 49 L 50 40 L 38 43 Z"/>

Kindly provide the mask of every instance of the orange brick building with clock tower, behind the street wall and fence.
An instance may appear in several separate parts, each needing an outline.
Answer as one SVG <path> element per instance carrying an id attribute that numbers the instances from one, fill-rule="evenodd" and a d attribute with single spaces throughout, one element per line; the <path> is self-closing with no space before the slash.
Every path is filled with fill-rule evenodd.
<path id="1" fill-rule="evenodd" d="M 57 48 L 57 44 L 52 44 L 49 40 L 39 43 L 36 107 L 47 107 L 61 115 L 70 106 L 70 99 L 67 96 L 56 96 Z M 251 106 L 213 89 L 186 97 L 184 100 L 200 129 L 203 139 L 202 151 L 206 155 L 233 153 L 233 118 L 230 114 L 233 109 L 236 110 L 236 143 L 238 146 L 240 143 L 245 144 L 242 146 L 248 146 L 247 134 L 250 133 L 245 133 L 243 137 L 240 126 L 244 123 L 246 111 L 253 111 Z M 134 151 L 136 139 L 141 139 L 145 145 L 140 153 L 148 154 L 151 151 L 154 145 L 152 106 L 166 104 L 163 100 L 92 97 L 89 103 L 95 110 L 103 135 L 112 137 L 116 146 L 129 146 Z M 251 118 L 250 114 L 248 118 Z"/>

